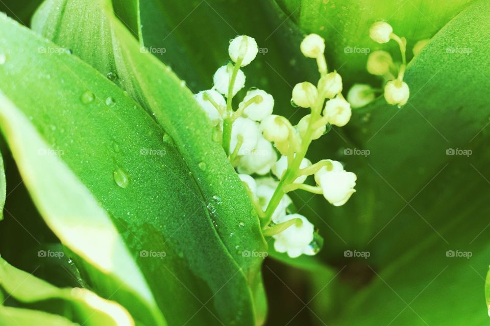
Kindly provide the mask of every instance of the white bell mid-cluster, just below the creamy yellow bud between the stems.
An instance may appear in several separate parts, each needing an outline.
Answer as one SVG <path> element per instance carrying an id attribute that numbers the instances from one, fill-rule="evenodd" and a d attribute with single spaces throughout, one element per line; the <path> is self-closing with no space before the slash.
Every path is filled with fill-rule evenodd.
<path id="1" fill-rule="evenodd" d="M 239 173 L 264 175 L 271 171 L 276 161 L 277 154 L 272 144 L 260 137 L 255 149 L 240 157 L 237 170 Z"/>

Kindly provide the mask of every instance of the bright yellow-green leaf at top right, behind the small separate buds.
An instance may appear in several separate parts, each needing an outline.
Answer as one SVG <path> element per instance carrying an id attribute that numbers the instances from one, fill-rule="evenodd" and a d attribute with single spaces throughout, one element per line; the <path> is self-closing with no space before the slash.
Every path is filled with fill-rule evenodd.
<path id="1" fill-rule="evenodd" d="M 332 67 L 342 67 L 348 84 L 370 79 L 365 70 L 366 49 L 388 50 L 400 60 L 395 42 L 377 44 L 369 38 L 375 21 L 386 20 L 394 32 L 407 38 L 408 56 L 419 40 L 431 38 L 474 0 L 276 0 L 305 34 L 327 40 L 326 55 Z M 369 52 L 368 52 L 369 53 Z M 354 80 L 352 80 L 354 79 Z"/>

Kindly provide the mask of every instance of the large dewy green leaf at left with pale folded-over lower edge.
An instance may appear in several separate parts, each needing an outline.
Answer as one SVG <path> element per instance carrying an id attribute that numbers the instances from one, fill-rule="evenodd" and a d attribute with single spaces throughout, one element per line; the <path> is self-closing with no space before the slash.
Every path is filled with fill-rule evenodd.
<path id="1" fill-rule="evenodd" d="M 0 127 L 43 218 L 80 256 L 91 288 L 144 324 L 164 324 L 158 308 L 169 323 L 253 324 L 250 288 L 168 134 L 54 43 L 5 17 L 0 30 L 9 31 L 0 38 L 8 95 Z"/>

